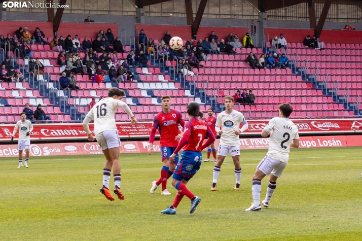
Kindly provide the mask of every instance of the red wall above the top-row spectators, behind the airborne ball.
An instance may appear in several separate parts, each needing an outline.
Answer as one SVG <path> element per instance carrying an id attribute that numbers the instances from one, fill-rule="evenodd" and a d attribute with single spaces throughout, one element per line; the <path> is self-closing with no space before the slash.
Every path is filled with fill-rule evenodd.
<path id="1" fill-rule="evenodd" d="M 150 24 L 136 24 L 135 29 L 140 32 L 141 29 L 144 30 L 148 38 L 161 40 L 165 35 L 166 31 L 170 31 L 172 37 L 178 36 L 183 40 L 191 39 L 191 26 L 185 25 L 150 25 Z M 248 27 L 199 27 L 197 32 L 197 39 L 204 39 L 209 37 L 211 31 L 215 32 L 215 35 L 219 37 L 219 41 L 222 39 L 226 40 L 229 33 L 232 32 L 239 36 L 239 39 L 242 39 L 245 36 L 245 33 L 249 31 Z"/>

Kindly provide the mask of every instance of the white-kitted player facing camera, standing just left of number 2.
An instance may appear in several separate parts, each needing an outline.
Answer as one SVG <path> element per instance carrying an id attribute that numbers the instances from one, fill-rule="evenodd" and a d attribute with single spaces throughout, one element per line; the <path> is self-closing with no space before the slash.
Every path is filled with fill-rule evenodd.
<path id="1" fill-rule="evenodd" d="M 216 183 L 223 164 L 228 152 L 233 158 L 234 162 L 234 173 L 236 178 L 236 184 L 234 190 L 240 190 L 240 179 L 241 179 L 241 166 L 240 166 L 240 140 L 239 134 L 248 128 L 248 124 L 242 113 L 233 110 L 234 98 L 230 95 L 225 96 L 225 108 L 216 118 L 215 130 L 216 133 L 220 134 L 220 144 L 218 148 L 218 160 L 213 167 L 213 180 L 211 191 L 216 191 Z M 243 127 L 240 129 L 240 123 Z M 220 129 L 221 127 L 221 129 Z"/>

